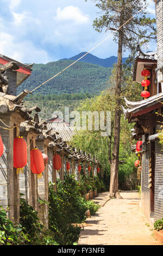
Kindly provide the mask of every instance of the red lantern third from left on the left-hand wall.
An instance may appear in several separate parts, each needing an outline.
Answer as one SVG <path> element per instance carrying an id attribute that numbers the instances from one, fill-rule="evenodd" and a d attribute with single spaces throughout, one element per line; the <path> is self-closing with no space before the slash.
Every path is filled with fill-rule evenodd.
<path id="1" fill-rule="evenodd" d="M 30 169 L 34 174 L 40 174 L 45 170 L 43 156 L 39 149 L 30 150 Z"/>

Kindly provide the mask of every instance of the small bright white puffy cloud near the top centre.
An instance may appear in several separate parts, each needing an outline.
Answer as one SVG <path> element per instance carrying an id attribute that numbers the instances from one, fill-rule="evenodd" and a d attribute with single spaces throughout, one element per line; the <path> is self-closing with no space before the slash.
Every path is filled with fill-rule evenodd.
<path id="1" fill-rule="evenodd" d="M 78 7 L 74 7 L 73 5 L 67 6 L 61 10 L 59 7 L 57 9 L 57 16 L 54 19 L 65 21 L 70 20 L 76 23 L 87 23 L 89 21 L 89 16 L 84 15 L 82 11 Z"/>

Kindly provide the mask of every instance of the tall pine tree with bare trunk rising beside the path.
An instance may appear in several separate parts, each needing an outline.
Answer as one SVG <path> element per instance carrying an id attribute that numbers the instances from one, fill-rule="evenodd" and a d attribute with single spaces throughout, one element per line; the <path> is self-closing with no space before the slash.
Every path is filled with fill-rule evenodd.
<path id="1" fill-rule="evenodd" d="M 92 0 L 102 10 L 103 15 L 93 21 L 93 27 L 98 32 L 112 31 L 114 41 L 118 43 L 117 69 L 115 84 L 115 125 L 114 143 L 111 158 L 110 196 L 122 198 L 118 192 L 118 155 L 120 147 L 121 120 L 121 84 L 122 84 L 122 52 L 134 52 L 137 44 L 145 44 L 156 39 L 155 19 L 148 17 L 146 8 L 137 14 L 146 4 L 143 0 Z M 137 14 L 136 16 L 134 16 Z M 133 17 L 134 16 L 134 17 Z M 127 22 L 131 17 L 129 22 Z M 124 26 L 122 26 L 127 22 Z M 120 28 L 120 29 L 118 29 Z M 118 29 L 118 31 L 116 31 Z"/>

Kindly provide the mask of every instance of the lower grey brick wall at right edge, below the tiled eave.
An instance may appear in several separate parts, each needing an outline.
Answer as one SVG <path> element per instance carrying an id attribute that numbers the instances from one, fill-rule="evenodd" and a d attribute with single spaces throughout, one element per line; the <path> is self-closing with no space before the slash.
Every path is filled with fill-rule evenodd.
<path id="1" fill-rule="evenodd" d="M 163 151 L 162 146 L 155 142 L 155 192 L 154 221 L 163 218 Z"/>

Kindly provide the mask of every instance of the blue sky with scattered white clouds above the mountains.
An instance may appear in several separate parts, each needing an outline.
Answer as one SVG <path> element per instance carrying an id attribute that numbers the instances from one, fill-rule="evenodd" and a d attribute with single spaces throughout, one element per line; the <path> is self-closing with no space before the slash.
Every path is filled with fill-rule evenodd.
<path id="1" fill-rule="evenodd" d="M 99 10 L 90 0 L 0 0 L 0 4 L 0 54 L 23 63 L 70 58 L 106 37 L 92 27 Z M 155 16 L 153 2 L 148 10 Z M 91 53 L 99 58 L 117 56 L 117 45 L 110 36 Z"/>

